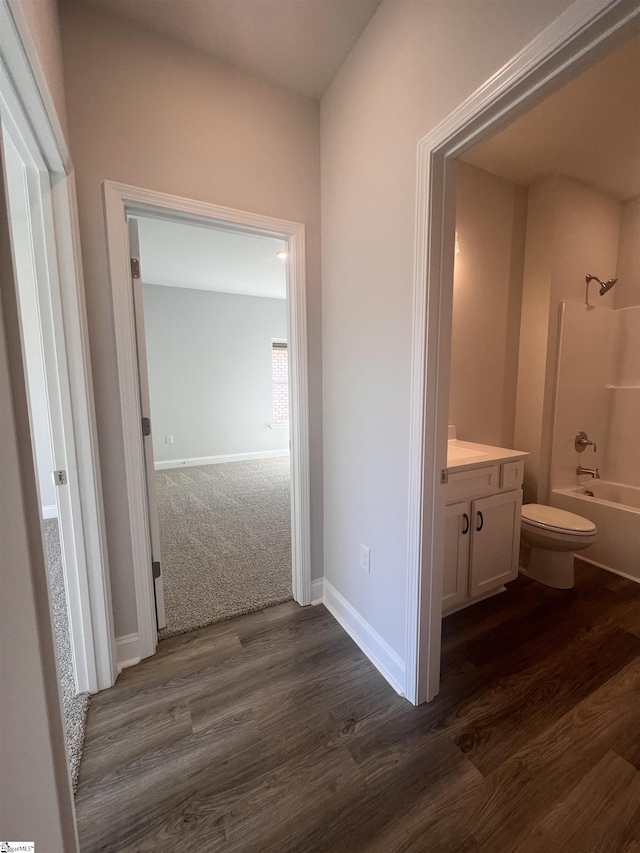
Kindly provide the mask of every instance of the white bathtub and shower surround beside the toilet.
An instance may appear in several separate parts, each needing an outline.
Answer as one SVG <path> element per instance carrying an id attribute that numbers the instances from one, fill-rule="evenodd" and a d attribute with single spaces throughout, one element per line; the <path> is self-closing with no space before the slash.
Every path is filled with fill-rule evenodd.
<path id="1" fill-rule="evenodd" d="M 598 541 L 581 558 L 640 581 L 640 306 L 568 302 L 561 315 L 549 502 L 596 524 Z M 581 429 L 595 453 L 575 450 Z M 578 465 L 602 479 L 578 476 Z"/>

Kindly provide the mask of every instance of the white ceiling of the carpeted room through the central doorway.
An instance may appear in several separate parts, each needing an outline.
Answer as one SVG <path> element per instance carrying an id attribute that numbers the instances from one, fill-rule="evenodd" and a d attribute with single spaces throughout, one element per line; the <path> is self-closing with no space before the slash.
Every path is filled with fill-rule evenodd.
<path id="1" fill-rule="evenodd" d="M 286 299 L 284 240 L 136 216 L 145 284 Z"/>

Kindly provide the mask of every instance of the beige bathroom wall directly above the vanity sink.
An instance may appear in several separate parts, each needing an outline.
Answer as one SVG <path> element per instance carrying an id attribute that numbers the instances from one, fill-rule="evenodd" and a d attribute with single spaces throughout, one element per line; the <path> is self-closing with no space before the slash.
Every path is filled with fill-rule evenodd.
<path id="1" fill-rule="evenodd" d="M 460 163 L 449 423 L 513 447 L 527 190 Z"/>

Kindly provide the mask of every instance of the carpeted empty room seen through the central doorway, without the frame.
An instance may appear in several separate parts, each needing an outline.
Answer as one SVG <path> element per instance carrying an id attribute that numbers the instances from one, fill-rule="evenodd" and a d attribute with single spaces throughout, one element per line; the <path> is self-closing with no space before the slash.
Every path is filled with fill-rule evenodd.
<path id="1" fill-rule="evenodd" d="M 291 598 L 282 240 L 139 218 L 166 625 Z"/>

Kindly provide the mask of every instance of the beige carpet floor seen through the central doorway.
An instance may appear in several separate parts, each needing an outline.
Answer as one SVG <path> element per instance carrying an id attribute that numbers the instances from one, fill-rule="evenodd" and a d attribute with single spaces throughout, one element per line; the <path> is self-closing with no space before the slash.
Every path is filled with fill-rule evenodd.
<path id="1" fill-rule="evenodd" d="M 161 639 L 291 598 L 289 459 L 157 471 Z"/>

